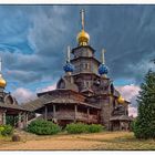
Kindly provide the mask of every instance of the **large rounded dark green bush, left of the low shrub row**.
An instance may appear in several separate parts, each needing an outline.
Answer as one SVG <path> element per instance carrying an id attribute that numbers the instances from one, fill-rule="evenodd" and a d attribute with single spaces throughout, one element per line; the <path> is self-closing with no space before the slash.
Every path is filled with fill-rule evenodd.
<path id="1" fill-rule="evenodd" d="M 61 131 L 61 127 L 50 121 L 37 120 L 31 122 L 27 131 L 37 135 L 53 135 Z"/>

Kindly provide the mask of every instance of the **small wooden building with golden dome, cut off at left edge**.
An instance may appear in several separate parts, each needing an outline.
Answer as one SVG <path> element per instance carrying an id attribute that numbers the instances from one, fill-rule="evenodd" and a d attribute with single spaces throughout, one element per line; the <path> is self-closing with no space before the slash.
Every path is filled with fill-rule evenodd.
<path id="1" fill-rule="evenodd" d="M 14 127 L 23 128 L 28 124 L 29 112 L 22 106 L 20 106 L 17 100 L 10 93 L 4 92 L 6 85 L 7 82 L 2 78 L 0 69 L 0 125 L 8 124 L 7 121 L 11 120 L 11 125 L 13 125 Z"/>

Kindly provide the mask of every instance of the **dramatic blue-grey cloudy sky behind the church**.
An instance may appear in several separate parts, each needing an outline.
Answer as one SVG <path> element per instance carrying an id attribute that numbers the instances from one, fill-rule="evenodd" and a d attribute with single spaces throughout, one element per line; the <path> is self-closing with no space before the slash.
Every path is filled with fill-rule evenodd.
<path id="1" fill-rule="evenodd" d="M 80 9 L 85 9 L 85 29 L 116 87 L 132 101 L 149 62 L 155 58 L 155 6 L 0 6 L 0 56 L 10 91 L 19 102 L 52 90 L 61 75 L 66 45 L 76 46 Z"/>

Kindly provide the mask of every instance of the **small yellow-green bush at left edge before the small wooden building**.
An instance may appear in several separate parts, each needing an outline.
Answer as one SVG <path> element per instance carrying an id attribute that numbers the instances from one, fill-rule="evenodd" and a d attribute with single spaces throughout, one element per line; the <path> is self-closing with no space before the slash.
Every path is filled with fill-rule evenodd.
<path id="1" fill-rule="evenodd" d="M 13 127 L 11 125 L 1 125 L 0 126 L 0 134 L 3 136 L 12 135 Z"/>

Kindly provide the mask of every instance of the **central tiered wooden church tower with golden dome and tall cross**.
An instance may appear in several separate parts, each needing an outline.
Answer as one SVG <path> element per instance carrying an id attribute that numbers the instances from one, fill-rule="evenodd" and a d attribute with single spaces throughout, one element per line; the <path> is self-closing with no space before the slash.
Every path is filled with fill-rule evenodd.
<path id="1" fill-rule="evenodd" d="M 72 49 L 74 65 L 73 76 L 82 93 L 93 92 L 93 81 L 99 76 L 97 68 L 101 64 L 94 58 L 95 50 L 90 45 L 90 34 L 85 31 L 84 10 L 81 11 L 82 30 L 76 37 L 78 46 Z"/>

